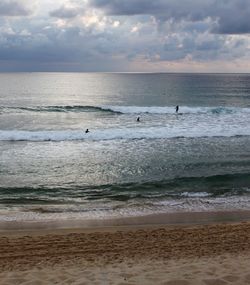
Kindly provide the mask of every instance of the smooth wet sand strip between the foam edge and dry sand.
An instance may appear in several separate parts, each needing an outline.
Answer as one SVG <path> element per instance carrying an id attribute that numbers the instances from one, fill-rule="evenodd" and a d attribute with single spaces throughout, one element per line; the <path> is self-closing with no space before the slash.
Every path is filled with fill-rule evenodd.
<path id="1" fill-rule="evenodd" d="M 208 211 L 208 212 L 175 212 L 157 213 L 135 217 L 118 217 L 105 219 L 75 219 L 48 221 L 0 221 L 0 236 L 50 231 L 89 230 L 102 231 L 126 227 L 159 227 L 159 226 L 191 226 L 215 223 L 239 223 L 250 221 L 250 210 L 242 211 Z"/>

